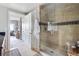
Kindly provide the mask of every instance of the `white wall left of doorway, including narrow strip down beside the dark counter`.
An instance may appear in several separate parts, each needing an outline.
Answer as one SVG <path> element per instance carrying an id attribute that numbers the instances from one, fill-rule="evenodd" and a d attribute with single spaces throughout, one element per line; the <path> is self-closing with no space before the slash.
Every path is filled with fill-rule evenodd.
<path id="1" fill-rule="evenodd" d="M 0 32 L 5 32 L 5 49 L 9 50 L 8 39 L 8 9 L 0 6 Z"/>

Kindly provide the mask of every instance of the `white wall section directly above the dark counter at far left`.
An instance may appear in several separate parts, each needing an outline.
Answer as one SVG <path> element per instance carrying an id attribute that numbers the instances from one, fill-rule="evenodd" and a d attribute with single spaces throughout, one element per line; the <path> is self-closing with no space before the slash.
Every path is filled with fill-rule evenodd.
<path id="1" fill-rule="evenodd" d="M 7 31 L 8 10 L 0 6 L 0 32 Z"/>

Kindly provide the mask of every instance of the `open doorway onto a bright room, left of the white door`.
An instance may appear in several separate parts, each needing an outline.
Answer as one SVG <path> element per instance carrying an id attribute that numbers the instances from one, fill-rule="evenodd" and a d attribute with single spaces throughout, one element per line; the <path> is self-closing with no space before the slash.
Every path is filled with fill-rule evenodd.
<path id="1" fill-rule="evenodd" d="M 9 12 L 9 35 L 10 35 L 10 49 L 16 48 L 21 43 L 21 18 L 17 13 Z M 19 43 L 19 44 L 18 44 Z"/>

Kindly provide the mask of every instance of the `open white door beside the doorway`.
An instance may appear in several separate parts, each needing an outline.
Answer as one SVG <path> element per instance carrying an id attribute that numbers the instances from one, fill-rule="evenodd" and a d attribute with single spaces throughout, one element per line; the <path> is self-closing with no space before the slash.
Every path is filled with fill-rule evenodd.
<path id="1" fill-rule="evenodd" d="M 31 48 L 31 13 L 22 19 L 22 40 Z"/>

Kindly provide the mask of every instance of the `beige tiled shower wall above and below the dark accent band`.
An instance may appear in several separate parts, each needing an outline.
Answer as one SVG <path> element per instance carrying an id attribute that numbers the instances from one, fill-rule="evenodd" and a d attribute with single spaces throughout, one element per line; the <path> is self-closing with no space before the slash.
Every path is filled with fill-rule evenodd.
<path id="1" fill-rule="evenodd" d="M 41 6 L 40 22 L 66 22 L 79 20 L 79 4 L 52 3 Z M 79 40 L 79 25 L 60 25 L 57 31 L 47 31 L 47 25 L 40 25 L 41 50 L 58 51 L 66 55 L 66 43 L 71 45 Z M 47 47 L 47 48 L 46 48 Z M 50 52 L 50 51 L 49 51 Z"/>

